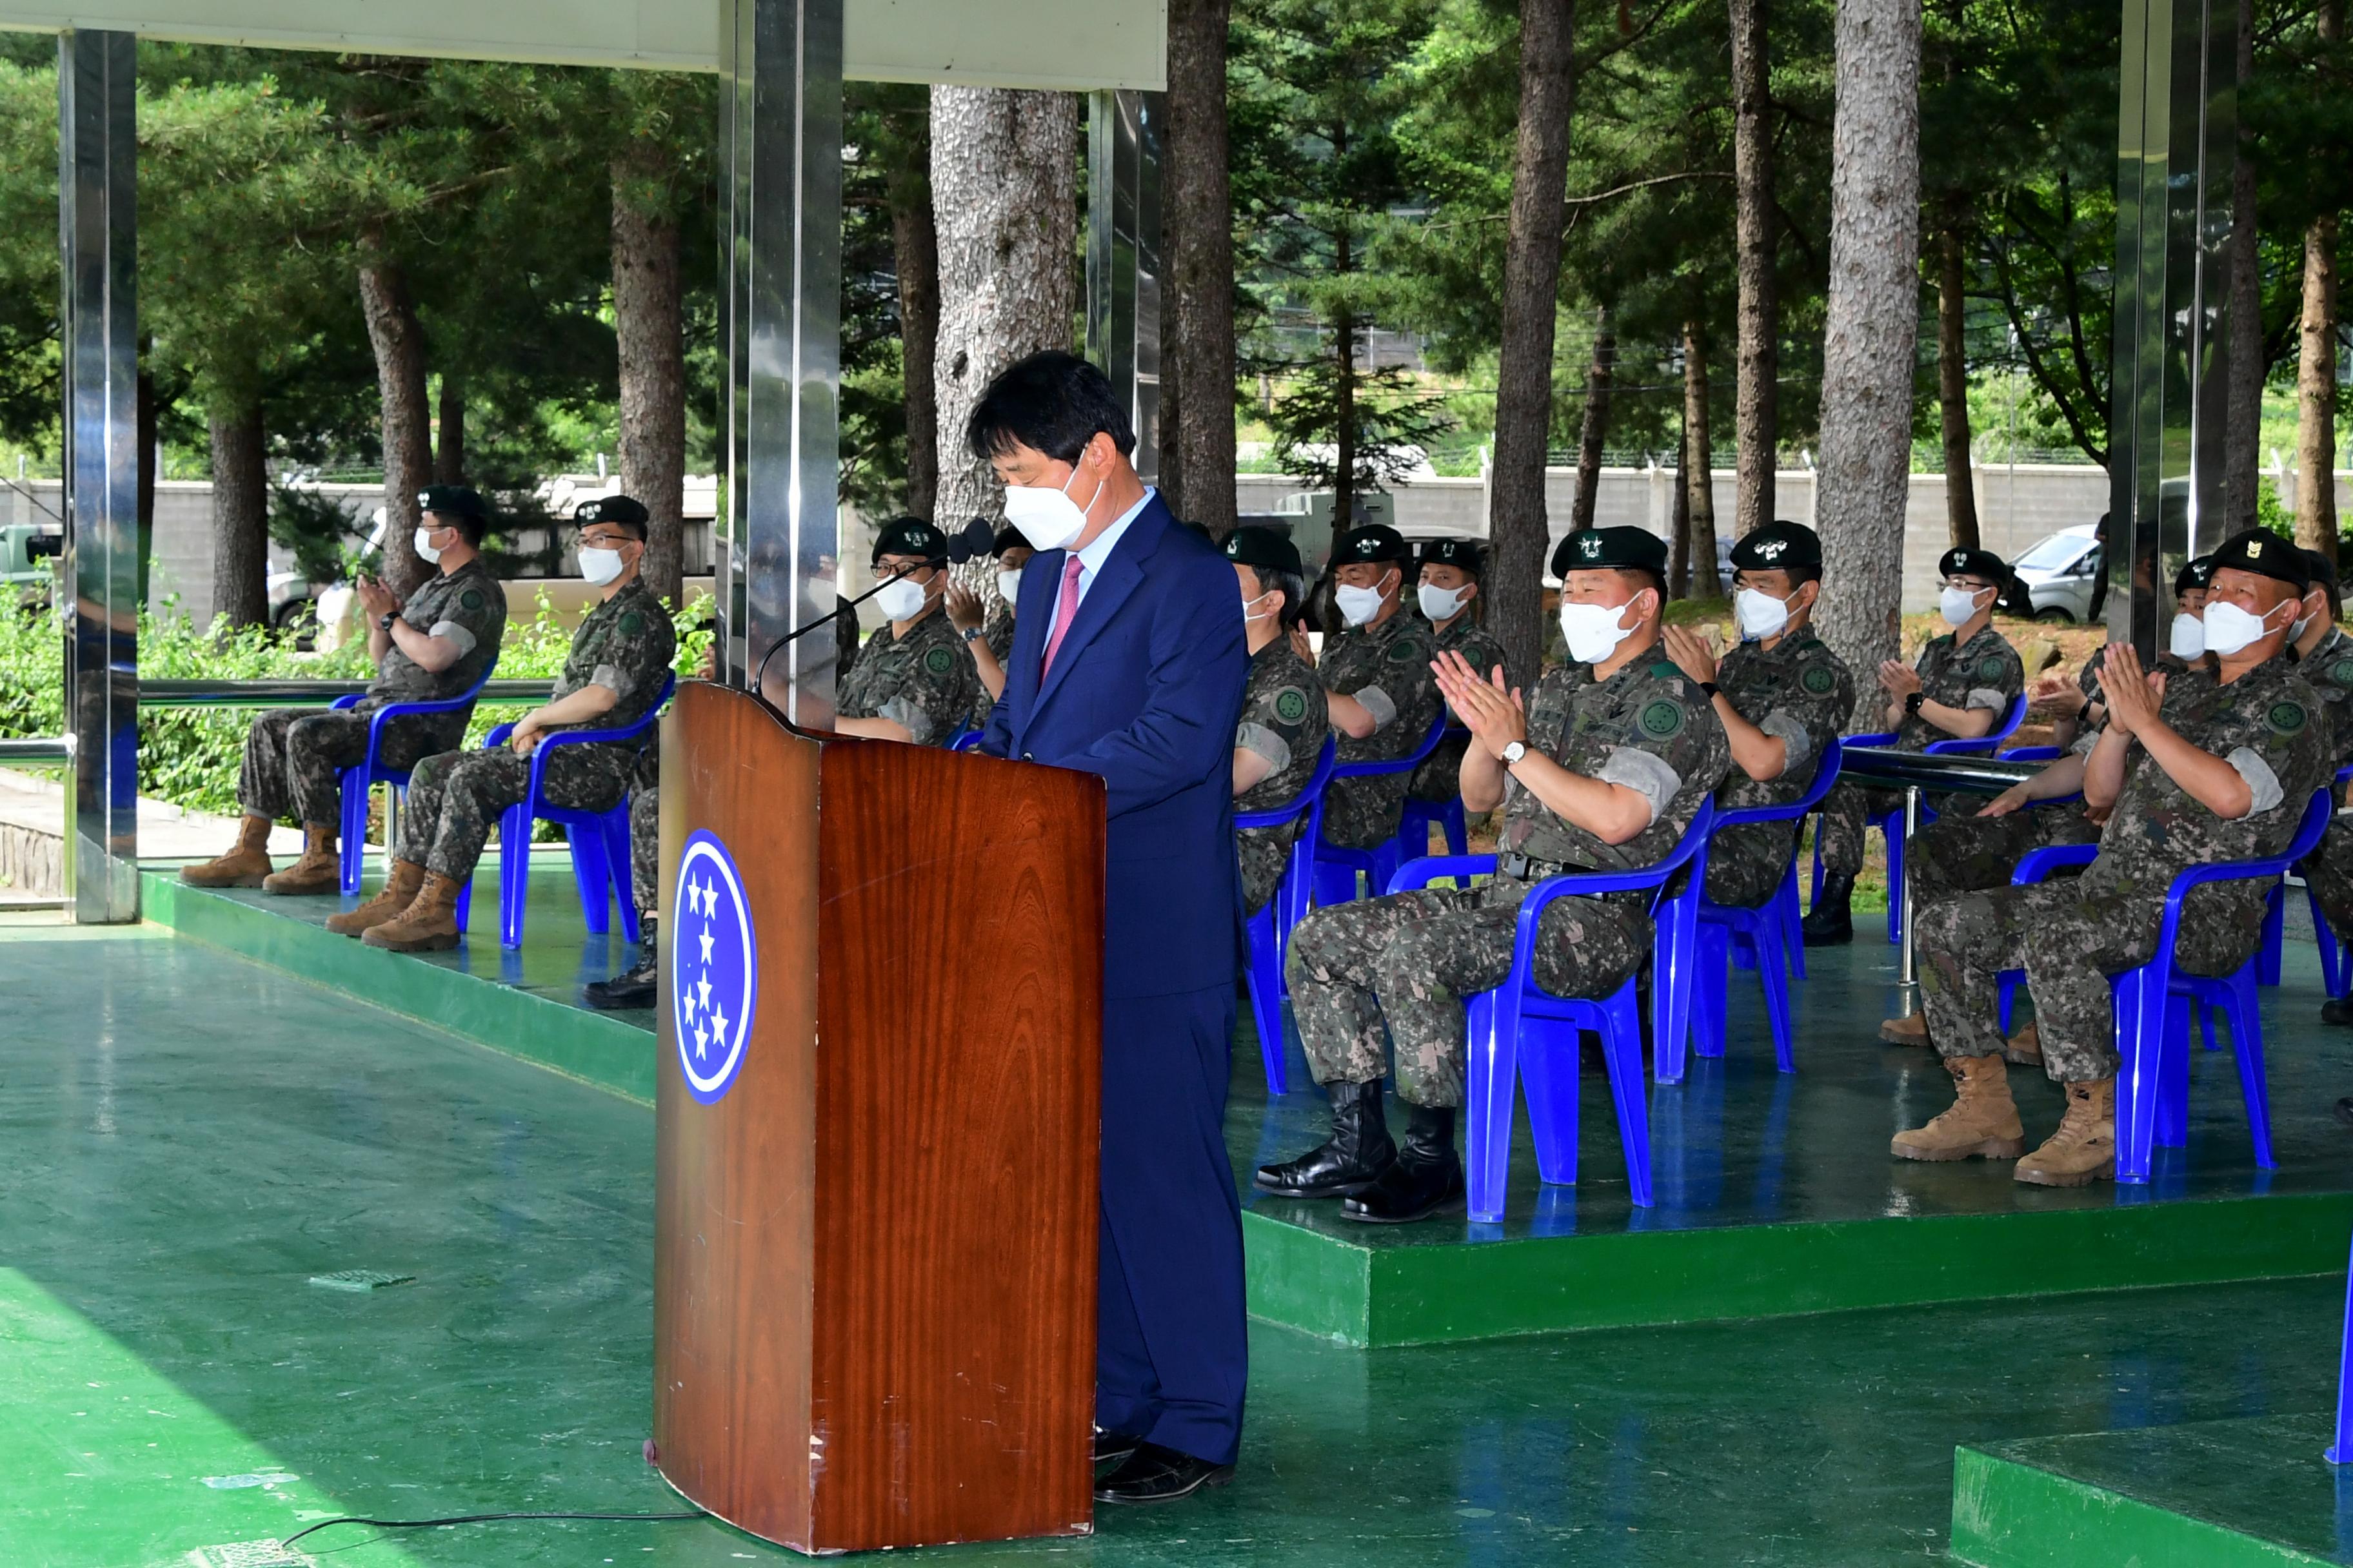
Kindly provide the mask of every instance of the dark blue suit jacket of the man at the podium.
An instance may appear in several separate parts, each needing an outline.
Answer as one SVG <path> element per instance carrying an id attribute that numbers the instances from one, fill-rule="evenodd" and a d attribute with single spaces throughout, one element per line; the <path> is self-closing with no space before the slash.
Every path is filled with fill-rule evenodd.
<path id="1" fill-rule="evenodd" d="M 1104 994 L 1233 985 L 1233 729 L 1249 651 L 1233 564 L 1151 496 L 1040 679 L 1064 550 L 1021 574 L 1005 696 L 981 750 L 1104 780 Z"/>

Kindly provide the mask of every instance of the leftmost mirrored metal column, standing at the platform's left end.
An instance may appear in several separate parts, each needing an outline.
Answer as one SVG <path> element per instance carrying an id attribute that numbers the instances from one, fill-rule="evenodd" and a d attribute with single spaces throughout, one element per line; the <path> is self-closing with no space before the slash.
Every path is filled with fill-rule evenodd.
<path id="1" fill-rule="evenodd" d="M 56 45 L 66 433 L 66 891 L 139 919 L 139 87 L 132 33 Z"/>

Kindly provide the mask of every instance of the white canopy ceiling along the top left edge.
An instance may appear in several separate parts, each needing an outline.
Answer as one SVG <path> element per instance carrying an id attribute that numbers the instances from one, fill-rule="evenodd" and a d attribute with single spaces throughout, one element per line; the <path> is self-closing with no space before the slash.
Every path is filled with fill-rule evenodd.
<path id="1" fill-rule="evenodd" d="M 720 0 L 0 0 L 0 28 L 259 49 L 718 71 Z M 969 87 L 1167 85 L 1165 0 L 842 0 L 842 75 Z"/>

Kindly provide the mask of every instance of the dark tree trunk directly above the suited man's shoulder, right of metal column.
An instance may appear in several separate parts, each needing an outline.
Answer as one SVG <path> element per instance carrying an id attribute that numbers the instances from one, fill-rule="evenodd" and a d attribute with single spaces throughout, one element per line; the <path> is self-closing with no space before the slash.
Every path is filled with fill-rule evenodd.
<path id="1" fill-rule="evenodd" d="M 1169 0 L 1160 162 L 1160 444 L 1181 517 L 1224 538 L 1233 498 L 1233 188 L 1226 26 L 1233 0 Z"/>

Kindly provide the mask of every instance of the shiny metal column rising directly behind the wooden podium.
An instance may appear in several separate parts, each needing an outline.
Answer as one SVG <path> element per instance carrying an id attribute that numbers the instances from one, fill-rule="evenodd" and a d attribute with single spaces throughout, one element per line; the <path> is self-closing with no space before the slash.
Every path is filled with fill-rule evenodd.
<path id="1" fill-rule="evenodd" d="M 720 38 L 727 449 L 720 538 L 725 679 L 833 616 L 842 381 L 842 0 L 729 0 Z M 762 689 L 833 726 L 833 637 L 812 632 Z"/>

